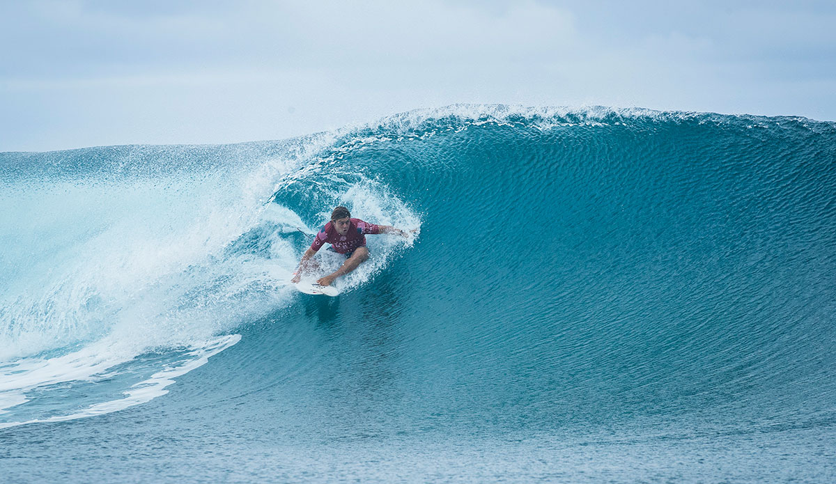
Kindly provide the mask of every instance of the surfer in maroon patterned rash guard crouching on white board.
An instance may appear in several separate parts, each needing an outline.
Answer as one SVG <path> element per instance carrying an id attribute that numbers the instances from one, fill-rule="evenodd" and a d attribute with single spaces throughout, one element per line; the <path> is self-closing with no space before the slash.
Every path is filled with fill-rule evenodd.
<path id="1" fill-rule="evenodd" d="M 411 232 L 415 232 L 415 230 L 413 229 Z M 291 282 L 298 283 L 303 272 L 316 267 L 316 262 L 311 261 L 310 258 L 316 255 L 316 252 L 322 248 L 325 242 L 328 242 L 334 252 L 345 254 L 346 257 L 345 262 L 339 269 L 323 278 L 319 278 L 317 281 L 322 286 L 331 285 L 334 279 L 350 273 L 369 258 L 369 249 L 365 247 L 365 236 L 366 234 L 379 233 L 394 233 L 401 237 L 410 237 L 408 232 L 402 231 L 400 228 L 375 225 L 374 223 L 364 222 L 359 218 L 351 218 L 349 209 L 344 206 L 334 208 L 334 211 L 331 212 L 331 222 L 326 223 L 325 227 L 322 227 L 322 230 L 316 234 L 314 242 L 305 251 L 298 269 L 293 273 Z"/>

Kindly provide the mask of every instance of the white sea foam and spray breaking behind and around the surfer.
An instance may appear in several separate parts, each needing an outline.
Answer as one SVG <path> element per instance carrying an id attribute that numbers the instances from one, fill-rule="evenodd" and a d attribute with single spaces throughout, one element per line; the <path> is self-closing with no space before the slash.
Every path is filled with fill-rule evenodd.
<path id="1" fill-rule="evenodd" d="M 99 415 L 164 395 L 176 376 L 235 344 L 240 336 L 229 333 L 237 325 L 298 298 L 289 279 L 305 247 L 288 234 L 303 232 L 309 243 L 331 207 L 308 227 L 295 207 L 271 199 L 288 176 L 318 174 L 312 154 L 333 139 L 317 135 L 290 144 L 283 157 L 197 172 L 59 172 L 11 184 L 0 195 L 8 214 L 0 223 L 8 242 L 0 248 L 0 261 L 8 262 L 0 269 L 0 426 Z M 358 176 L 359 182 L 338 181 L 324 198 L 370 222 L 420 227 L 385 186 Z M 238 243 L 253 232 L 261 252 Z M 370 280 L 412 240 L 370 237 L 373 257 L 340 287 Z M 342 260 L 334 256 L 320 255 L 335 268 Z M 141 363 L 149 352 L 164 355 L 155 367 Z M 131 372 L 144 380 L 123 378 Z M 104 379 L 124 380 L 123 396 L 84 400 L 81 410 L 78 401 L 60 398 Z M 33 399 L 47 401 L 39 406 L 48 412 L 33 416 L 26 405 Z"/>

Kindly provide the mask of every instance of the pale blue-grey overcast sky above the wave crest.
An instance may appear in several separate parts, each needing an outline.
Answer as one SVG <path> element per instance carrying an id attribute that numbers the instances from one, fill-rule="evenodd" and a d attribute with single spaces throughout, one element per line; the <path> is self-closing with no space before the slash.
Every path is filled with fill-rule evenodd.
<path id="1" fill-rule="evenodd" d="M 276 140 L 455 103 L 836 120 L 836 2 L 0 0 L 0 151 Z"/>

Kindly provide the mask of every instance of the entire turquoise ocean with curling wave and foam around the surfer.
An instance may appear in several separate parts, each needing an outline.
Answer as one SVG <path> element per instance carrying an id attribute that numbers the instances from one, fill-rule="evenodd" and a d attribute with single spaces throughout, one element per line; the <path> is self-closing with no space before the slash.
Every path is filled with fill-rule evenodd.
<path id="1" fill-rule="evenodd" d="M 298 293 L 339 204 L 418 230 Z M 836 481 L 833 122 L 7 152 L 0 213 L 3 483 Z"/>

